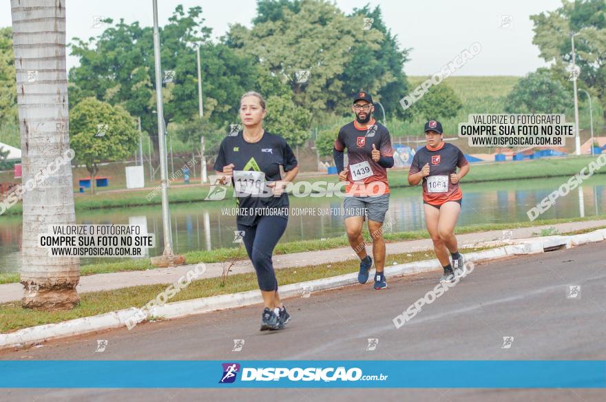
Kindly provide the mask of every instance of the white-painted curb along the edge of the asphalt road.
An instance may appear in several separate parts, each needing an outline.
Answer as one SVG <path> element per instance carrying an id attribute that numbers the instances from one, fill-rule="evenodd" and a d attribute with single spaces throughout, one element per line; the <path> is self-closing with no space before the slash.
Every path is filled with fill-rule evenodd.
<path id="1" fill-rule="evenodd" d="M 516 240 L 516 242 L 512 242 L 514 244 L 480 251 L 479 253 L 469 253 L 465 256 L 466 261 L 468 262 L 489 261 L 514 255 L 544 253 L 546 251 L 571 248 L 572 246 L 590 242 L 601 242 L 603 240 L 606 240 L 606 229 L 599 229 L 581 235 L 548 236 L 536 239 Z M 435 271 L 441 268 L 441 265 L 437 260 L 424 260 L 394 265 L 389 268 L 389 273 L 386 274 L 386 276 L 397 277 Z M 335 277 L 280 286 L 280 296 L 283 298 L 309 297 L 313 291 L 342 288 L 343 286 L 353 284 L 357 284 L 357 273 L 347 273 Z M 248 292 L 234 293 L 231 295 L 220 295 L 167 303 L 163 306 L 154 307 L 150 314 L 164 317 L 165 319 L 174 319 L 227 308 L 250 306 L 252 304 L 262 303 L 262 301 L 262 297 L 258 290 L 250 290 Z M 43 341 L 49 341 L 50 339 L 120 328 L 126 326 L 127 319 L 135 315 L 137 311 L 138 308 L 127 308 L 95 315 L 93 317 L 82 317 L 56 324 L 45 324 L 0 334 L 0 349 L 30 346 Z"/>

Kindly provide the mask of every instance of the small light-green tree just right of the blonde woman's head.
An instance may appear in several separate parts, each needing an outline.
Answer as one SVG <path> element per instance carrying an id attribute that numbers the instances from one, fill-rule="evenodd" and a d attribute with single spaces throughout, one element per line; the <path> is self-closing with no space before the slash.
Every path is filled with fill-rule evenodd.
<path id="1" fill-rule="evenodd" d="M 311 113 L 295 105 L 288 94 L 267 98 L 265 129 L 286 138 L 291 147 L 303 145 L 309 138 L 310 123 Z"/>

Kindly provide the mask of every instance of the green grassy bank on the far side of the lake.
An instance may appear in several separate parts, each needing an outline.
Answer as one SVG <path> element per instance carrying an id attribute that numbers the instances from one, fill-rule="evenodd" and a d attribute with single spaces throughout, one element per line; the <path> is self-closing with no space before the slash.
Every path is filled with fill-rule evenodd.
<path id="1" fill-rule="evenodd" d="M 586 167 L 590 161 L 595 160 L 592 156 L 578 156 L 569 158 L 545 158 L 536 160 L 521 160 L 516 162 L 487 163 L 481 165 L 472 165 L 470 173 L 463 179 L 462 183 L 488 182 L 497 180 L 523 180 L 533 178 L 553 178 L 561 176 L 572 176 L 578 173 L 583 167 Z M 606 173 L 606 171 L 596 171 L 596 173 Z M 388 173 L 390 187 L 408 187 L 407 170 L 390 170 Z M 296 181 L 307 180 L 315 182 L 317 180 L 327 180 L 337 182 L 337 176 L 313 176 L 299 178 Z M 74 202 L 76 211 L 86 211 L 91 209 L 107 208 L 125 208 L 125 207 L 146 207 L 161 203 L 160 194 L 156 194 L 151 200 L 146 198 L 151 189 L 140 191 L 124 191 L 118 193 L 97 193 L 77 194 Z M 174 186 L 169 189 L 169 202 L 178 204 L 182 202 L 202 202 L 208 194 L 209 187 L 179 187 Z M 228 191 L 226 204 L 232 206 L 231 191 Z M 216 205 L 220 202 L 211 202 Z M 19 215 L 22 212 L 21 204 L 16 204 L 8 209 L 4 215 Z"/>

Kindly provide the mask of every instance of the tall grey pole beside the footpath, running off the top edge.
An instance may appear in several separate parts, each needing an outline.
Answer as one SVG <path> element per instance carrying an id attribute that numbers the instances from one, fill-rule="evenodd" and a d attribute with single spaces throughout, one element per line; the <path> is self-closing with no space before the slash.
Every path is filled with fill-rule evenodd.
<path id="1" fill-rule="evenodd" d="M 162 192 L 162 226 L 164 231 L 164 253 L 172 263 L 173 240 L 170 224 L 170 213 L 168 208 L 168 186 L 167 180 L 167 155 L 166 138 L 164 127 L 164 109 L 162 105 L 162 76 L 160 75 L 160 32 L 158 32 L 158 0 L 153 0 L 154 5 L 154 62 L 156 67 L 156 116 L 158 116 L 158 145 L 160 151 L 160 189 Z"/>

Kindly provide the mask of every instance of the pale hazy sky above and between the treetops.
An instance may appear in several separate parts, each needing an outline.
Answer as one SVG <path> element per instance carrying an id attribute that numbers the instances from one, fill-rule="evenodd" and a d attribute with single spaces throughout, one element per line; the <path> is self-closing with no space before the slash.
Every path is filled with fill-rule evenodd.
<path id="1" fill-rule="evenodd" d="M 402 48 L 412 47 L 410 61 L 404 72 L 410 76 L 428 76 L 439 72 L 461 50 L 474 42 L 481 43 L 481 52 L 453 75 L 459 76 L 524 76 L 547 65 L 532 44 L 530 15 L 552 11 L 560 0 L 337 0 L 337 6 L 350 13 L 354 8 L 370 4 L 380 6 L 383 18 Z M 151 0 L 67 0 L 67 39 L 98 36 L 103 26 L 94 24 L 97 17 L 125 22 L 153 22 Z M 176 5 L 184 8 L 201 6 L 205 24 L 218 38 L 232 23 L 251 26 L 255 16 L 254 0 L 158 0 L 158 20 L 167 23 Z M 0 27 L 11 25 L 10 2 L 0 3 Z M 67 56 L 67 67 L 78 64 Z"/>

